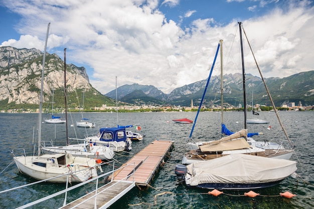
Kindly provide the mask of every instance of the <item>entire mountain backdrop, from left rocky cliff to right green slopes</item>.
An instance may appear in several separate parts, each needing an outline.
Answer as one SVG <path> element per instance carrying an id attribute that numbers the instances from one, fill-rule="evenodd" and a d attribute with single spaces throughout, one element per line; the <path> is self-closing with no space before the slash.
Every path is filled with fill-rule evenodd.
<path id="1" fill-rule="evenodd" d="M 36 107 L 39 104 L 43 53 L 37 49 L 0 47 L 0 108 Z M 116 93 L 119 101 L 130 104 L 151 105 L 198 105 L 204 93 L 207 79 L 174 89 L 165 94 L 152 85 L 123 85 L 105 95 L 92 87 L 84 67 L 67 64 L 67 98 L 71 108 L 80 107 L 82 94 L 85 108 L 115 106 Z M 314 104 L 314 71 L 307 71 L 286 78 L 265 78 L 276 106 L 299 102 L 303 106 Z M 242 74 L 223 76 L 225 105 L 243 104 Z M 64 107 L 64 62 L 56 54 L 46 54 L 44 101 L 49 106 L 54 89 L 54 107 Z M 212 76 L 203 104 L 221 103 L 220 76 Z M 261 78 L 246 75 L 247 103 L 266 104 L 270 101 Z M 49 103 L 50 102 L 50 103 Z"/>

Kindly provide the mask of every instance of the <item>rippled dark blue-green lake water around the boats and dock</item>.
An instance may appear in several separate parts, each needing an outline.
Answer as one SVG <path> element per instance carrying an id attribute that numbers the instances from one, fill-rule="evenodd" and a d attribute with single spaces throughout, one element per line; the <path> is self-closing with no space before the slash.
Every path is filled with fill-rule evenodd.
<path id="1" fill-rule="evenodd" d="M 291 160 L 298 161 L 297 174 L 300 178 L 286 178 L 280 184 L 266 189 L 254 190 L 260 196 L 254 198 L 244 196 L 248 191 L 228 191 L 217 197 L 207 194 L 209 190 L 188 188 L 179 184 L 176 179 L 175 166 L 180 164 L 185 150 L 185 144 L 191 141 L 189 138 L 193 124 L 173 123 L 173 119 L 187 117 L 195 119 L 196 112 L 171 112 L 171 113 L 119 113 L 118 124 L 130 125 L 140 123 L 141 134 L 145 135 L 142 141 L 133 141 L 131 153 L 118 153 L 115 155 L 118 162 L 127 161 L 133 153 L 137 153 L 156 139 L 171 139 L 175 146 L 162 166 L 154 176 L 151 186 L 146 190 L 133 188 L 110 208 L 314 208 L 314 111 L 311 112 L 279 112 L 285 125 L 290 140 L 295 143 L 295 154 Z M 28 155 L 32 155 L 33 129 L 37 127 L 38 114 L 1 113 L 0 114 L 0 190 L 13 188 L 35 180 L 21 174 L 13 162 L 10 153 L 13 148 L 25 148 Z M 43 117 L 49 115 L 43 114 Z M 75 124 L 78 114 L 68 114 L 69 124 Z M 99 128 L 116 127 L 116 113 L 86 113 L 96 123 L 95 128 L 77 128 L 69 126 L 69 137 L 83 138 L 86 133 L 97 133 Z M 248 113 L 248 118 L 251 114 Z M 263 132 L 254 137 L 256 140 L 270 140 L 275 137 L 283 138 L 274 112 L 260 112 L 260 119 L 269 121 L 271 130 L 267 130 L 267 124 L 248 124 L 249 132 Z M 238 131 L 244 127 L 243 112 L 225 112 L 224 123 L 231 131 Z M 72 122 L 73 121 L 73 122 Z M 237 123 L 238 122 L 238 123 Z M 214 140 L 220 138 L 221 114 L 216 112 L 201 112 L 197 119 L 192 135 L 193 141 Z M 133 129 L 134 132 L 137 132 Z M 36 131 L 35 131 L 36 132 Z M 65 124 L 42 123 L 42 140 L 64 140 Z M 37 146 L 37 137 L 34 139 Z M 119 155 L 121 154 L 121 155 Z M 10 164 L 12 163 L 12 164 Z M 68 202 L 76 196 L 85 194 L 90 188 L 75 189 L 68 194 Z M 16 208 L 39 197 L 44 197 L 65 188 L 65 184 L 42 183 L 20 190 L 9 191 L 1 194 L 0 208 Z M 291 199 L 281 197 L 279 193 L 289 191 L 296 196 Z M 164 193 L 163 192 L 171 192 Z M 157 195 L 161 194 L 161 195 Z M 155 196 L 156 195 L 156 196 Z M 279 195 L 279 196 L 278 196 Z M 48 200 L 36 205 L 34 208 L 58 208 L 62 206 L 64 196 Z"/>

